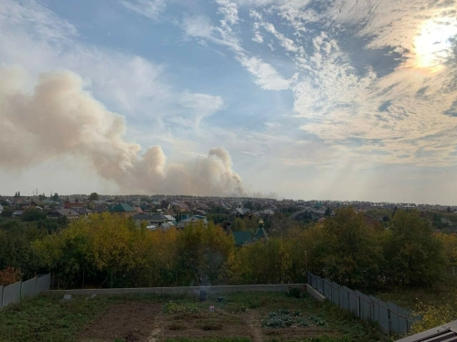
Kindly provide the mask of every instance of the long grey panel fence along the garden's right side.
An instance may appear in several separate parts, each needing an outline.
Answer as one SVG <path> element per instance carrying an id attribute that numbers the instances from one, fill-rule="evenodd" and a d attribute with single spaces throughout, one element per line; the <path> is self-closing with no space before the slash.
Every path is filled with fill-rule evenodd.
<path id="1" fill-rule="evenodd" d="M 377 322 L 387 334 L 408 334 L 412 323 L 418 318 L 391 302 L 385 303 L 373 295 L 364 295 L 311 273 L 308 273 L 307 284 L 357 317 Z"/>

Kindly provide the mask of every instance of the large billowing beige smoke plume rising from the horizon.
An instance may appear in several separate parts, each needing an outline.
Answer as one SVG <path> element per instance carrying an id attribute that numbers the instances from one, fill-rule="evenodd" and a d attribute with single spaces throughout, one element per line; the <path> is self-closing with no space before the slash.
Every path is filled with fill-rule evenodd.
<path id="1" fill-rule="evenodd" d="M 246 196 L 227 150 L 215 148 L 188 165 L 166 164 L 153 146 L 143 154 L 123 139 L 126 124 L 83 90 L 70 71 L 30 83 L 21 67 L 0 67 L 0 167 L 24 170 L 61 155 L 82 156 L 122 192 Z"/>

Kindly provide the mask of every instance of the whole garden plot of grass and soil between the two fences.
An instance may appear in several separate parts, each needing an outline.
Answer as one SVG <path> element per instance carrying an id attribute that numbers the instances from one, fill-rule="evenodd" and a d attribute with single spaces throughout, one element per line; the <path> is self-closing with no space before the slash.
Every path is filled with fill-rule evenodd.
<path id="1" fill-rule="evenodd" d="M 215 306 L 210 312 L 209 306 Z M 309 295 L 42 295 L 0 311 L 0 341 L 74 342 L 387 341 L 376 326 Z"/>

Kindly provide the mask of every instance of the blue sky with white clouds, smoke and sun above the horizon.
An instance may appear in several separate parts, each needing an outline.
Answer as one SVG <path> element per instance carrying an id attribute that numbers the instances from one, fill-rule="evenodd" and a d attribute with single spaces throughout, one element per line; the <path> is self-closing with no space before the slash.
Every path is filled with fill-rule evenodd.
<path id="1" fill-rule="evenodd" d="M 0 0 L 0 194 L 457 204 L 453 0 Z"/>

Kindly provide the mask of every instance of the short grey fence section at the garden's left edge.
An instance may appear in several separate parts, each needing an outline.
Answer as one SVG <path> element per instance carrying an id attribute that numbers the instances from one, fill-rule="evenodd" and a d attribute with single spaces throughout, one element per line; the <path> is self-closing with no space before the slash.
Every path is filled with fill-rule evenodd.
<path id="1" fill-rule="evenodd" d="M 25 282 L 3 286 L 0 285 L 0 308 L 17 303 L 27 296 L 38 295 L 48 291 L 51 285 L 51 275 L 40 275 Z"/>

